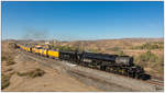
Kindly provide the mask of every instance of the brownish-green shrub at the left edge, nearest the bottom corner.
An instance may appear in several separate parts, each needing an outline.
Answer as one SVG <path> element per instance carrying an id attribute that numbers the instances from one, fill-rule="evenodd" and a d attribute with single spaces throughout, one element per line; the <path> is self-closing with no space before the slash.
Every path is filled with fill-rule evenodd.
<path id="1" fill-rule="evenodd" d="M 10 85 L 10 75 L 2 74 L 1 75 L 1 89 L 6 89 Z"/>

